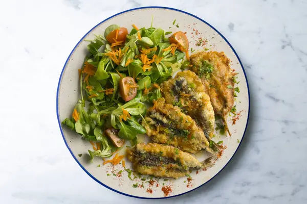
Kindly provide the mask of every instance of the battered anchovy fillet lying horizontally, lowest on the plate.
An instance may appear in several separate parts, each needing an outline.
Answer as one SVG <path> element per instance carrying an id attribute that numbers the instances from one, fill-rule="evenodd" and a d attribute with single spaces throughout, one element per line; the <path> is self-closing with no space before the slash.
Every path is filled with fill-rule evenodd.
<path id="1" fill-rule="evenodd" d="M 173 146 L 157 143 L 139 143 L 134 149 L 127 150 L 127 157 L 135 171 L 161 177 L 185 176 L 192 170 L 212 166 L 211 158 L 199 162 L 188 153 Z"/>

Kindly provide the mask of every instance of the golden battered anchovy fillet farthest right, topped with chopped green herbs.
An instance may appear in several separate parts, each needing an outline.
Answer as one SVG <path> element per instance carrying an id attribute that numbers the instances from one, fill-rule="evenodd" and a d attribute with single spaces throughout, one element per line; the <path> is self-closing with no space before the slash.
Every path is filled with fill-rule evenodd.
<path id="1" fill-rule="evenodd" d="M 233 77 L 237 73 L 230 69 L 229 58 L 224 52 L 200 52 L 191 55 L 190 62 L 193 65 L 190 69 L 201 78 L 215 114 L 222 117 L 231 136 L 226 119 L 234 103 Z"/>

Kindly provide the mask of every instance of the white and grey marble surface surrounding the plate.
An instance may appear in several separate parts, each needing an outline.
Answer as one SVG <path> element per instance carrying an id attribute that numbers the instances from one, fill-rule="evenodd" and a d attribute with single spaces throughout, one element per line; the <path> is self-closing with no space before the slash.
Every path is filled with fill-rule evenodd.
<path id="1" fill-rule="evenodd" d="M 166 3 L 167 2 L 167 3 Z M 307 2 L 6 1 L 0 7 L 0 203 L 144 203 L 91 179 L 56 119 L 62 66 L 101 20 L 142 6 L 182 9 L 211 23 L 244 63 L 246 137 L 229 165 L 186 195 L 146 203 L 307 203 Z"/>

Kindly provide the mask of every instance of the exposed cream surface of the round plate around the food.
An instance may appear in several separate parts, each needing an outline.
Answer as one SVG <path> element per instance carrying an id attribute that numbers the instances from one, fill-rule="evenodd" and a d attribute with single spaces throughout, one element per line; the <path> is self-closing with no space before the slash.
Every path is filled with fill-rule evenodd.
<path id="1" fill-rule="evenodd" d="M 116 165 L 115 167 L 111 164 L 102 165 L 103 161 L 101 158 L 95 158 L 94 162 L 90 164 L 87 149 L 92 149 L 92 145 L 87 141 L 83 141 L 77 133 L 61 125 L 63 119 L 71 116 L 76 101 L 80 97 L 77 70 L 80 69 L 83 64 L 83 59 L 87 54 L 86 45 L 89 44 L 89 42 L 84 41 L 84 39 L 94 39 L 95 34 L 103 35 L 104 30 L 110 24 L 118 24 L 120 27 L 126 27 L 128 31 L 132 29 L 132 24 L 136 24 L 139 28 L 149 28 L 152 15 L 153 27 L 162 28 L 165 32 L 186 32 L 192 49 L 208 49 L 208 51 L 216 50 L 218 52 L 225 52 L 231 60 L 231 68 L 238 73 L 237 80 L 240 82 L 238 84 L 240 92 L 237 93 L 238 96 L 236 97 L 235 105 L 237 113 L 239 114 L 228 117 L 228 124 L 232 137 L 229 138 L 216 134 L 214 140 L 223 140 L 223 144 L 227 146 L 227 148 L 224 150 L 222 157 L 215 162 L 213 167 L 207 170 L 193 171 L 190 174 L 191 179 L 187 179 L 187 177 L 182 177 L 177 180 L 160 179 L 157 181 L 153 179 L 152 182 L 149 182 L 150 178 L 146 178 L 146 181 L 143 181 L 145 180 L 144 176 L 141 178 L 136 176 L 135 180 L 131 181 L 127 176 L 128 172 L 124 170 L 122 165 Z M 176 22 L 173 23 L 175 19 Z M 73 158 L 96 182 L 108 189 L 131 197 L 152 199 L 173 197 L 190 192 L 209 182 L 228 164 L 235 154 L 242 142 L 248 124 L 248 82 L 243 65 L 233 47 L 220 32 L 206 21 L 187 12 L 172 8 L 143 7 L 131 9 L 103 20 L 92 30 L 87 32 L 74 47 L 64 64 L 59 79 L 57 88 L 57 117 L 64 142 Z M 235 124 L 232 125 L 233 121 L 235 121 Z M 81 157 L 78 156 L 80 154 L 82 154 Z M 125 149 L 122 149 L 119 154 L 125 154 Z M 205 154 L 197 154 L 196 157 L 201 161 L 205 158 Z M 126 161 L 126 168 L 131 168 L 128 161 Z M 142 178 L 144 179 L 142 180 Z"/>

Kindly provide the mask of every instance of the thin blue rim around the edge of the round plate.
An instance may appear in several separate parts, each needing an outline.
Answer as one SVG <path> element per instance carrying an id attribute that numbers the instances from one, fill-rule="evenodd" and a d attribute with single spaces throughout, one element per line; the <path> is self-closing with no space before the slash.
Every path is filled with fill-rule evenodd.
<path id="1" fill-rule="evenodd" d="M 232 155 L 232 157 L 230 158 L 230 160 L 227 162 L 227 164 L 225 164 L 225 166 L 220 170 L 218 171 L 210 180 L 208 180 L 207 182 L 205 182 L 204 184 L 200 185 L 199 187 L 197 188 L 194 188 L 190 191 L 187 191 L 187 192 L 184 192 L 184 193 L 181 193 L 181 194 L 178 194 L 178 195 L 173 195 L 173 196 L 168 196 L 168 197 L 155 197 L 155 198 L 151 198 L 151 197 L 140 197 L 140 196 L 135 196 L 135 195 L 130 195 L 130 194 L 126 194 L 126 193 L 123 193 L 123 192 L 120 192 L 120 191 L 117 191 L 111 187 L 108 187 L 107 185 L 103 184 L 102 182 L 100 182 L 99 180 L 97 180 L 89 171 L 87 171 L 82 165 L 81 163 L 77 160 L 77 158 L 74 156 L 71 148 L 69 147 L 68 145 L 68 142 L 65 140 L 65 137 L 64 137 L 64 133 L 63 133 L 63 130 L 62 130 L 62 125 L 61 125 L 61 121 L 60 121 L 60 117 L 59 117 L 59 109 L 58 109 L 58 99 L 59 99 L 59 90 L 60 90 L 60 85 L 61 85 L 61 80 L 62 80 L 62 75 L 63 75 L 63 72 L 64 72 L 64 69 L 65 69 L 65 66 L 67 65 L 71 55 L 73 54 L 73 52 L 75 51 L 76 47 L 80 44 L 80 42 L 87 36 L 87 34 L 89 34 L 90 32 L 92 32 L 96 27 L 98 27 L 101 23 L 103 23 L 104 21 L 108 20 L 108 19 L 111 19 L 117 15 L 120 15 L 122 13 L 126 13 L 126 12 L 129 12 L 129 11 L 134 11 L 134 10 L 140 10 L 140 9 L 168 9 L 168 10 L 173 10 L 173 11 L 178 11 L 178 12 L 181 12 L 181 13 L 184 13 L 184 14 L 187 14 L 187 15 L 190 15 L 204 23 L 206 23 L 207 25 L 209 25 L 210 28 L 212 28 L 215 32 L 217 32 L 226 42 L 227 44 L 230 46 L 230 48 L 232 49 L 233 53 L 235 54 L 235 56 L 237 57 L 242 69 L 243 69 L 243 73 L 244 73 L 244 77 L 245 77 L 245 80 L 246 80 L 246 85 L 247 85 L 247 91 L 248 91 L 248 115 L 247 115 L 247 121 L 246 121 L 246 126 L 245 126 L 245 130 L 244 130 L 244 133 L 243 133 L 243 136 L 242 136 L 242 140 L 240 141 L 237 149 L 235 150 L 234 154 Z M 60 78 L 59 78 L 59 82 L 58 82 L 58 87 L 57 87 L 57 91 L 56 91 L 56 115 L 57 115 L 57 120 L 58 120 L 58 124 L 59 124 L 59 127 L 60 127 L 60 131 L 61 131 L 61 134 L 62 134 L 62 137 L 63 137 L 63 140 L 65 142 L 65 145 L 67 146 L 68 150 L 70 151 L 71 155 L 73 156 L 73 158 L 75 159 L 75 161 L 79 164 L 79 166 L 85 171 L 85 173 L 87 173 L 87 175 L 89 175 L 90 177 L 92 177 L 93 180 L 95 180 L 97 183 L 101 184 L 102 186 L 114 191 L 114 192 L 117 192 L 119 194 L 122 194 L 122 195 L 126 195 L 126 196 L 129 196 L 129 197 L 135 197 L 135 198 L 141 198 L 141 199 L 166 199 L 166 198 L 171 198 L 171 197 L 177 197 L 177 196 L 180 196 L 180 195 L 184 195 L 186 193 L 189 193 L 195 189 L 198 189 L 202 186 L 204 186 L 205 184 L 207 184 L 208 182 L 210 182 L 217 174 L 219 174 L 228 164 L 229 162 L 232 160 L 232 158 L 234 157 L 234 155 L 236 154 L 238 148 L 240 147 L 243 139 L 244 139 L 244 136 L 245 136 L 245 133 L 246 133 L 246 130 L 247 130 L 247 126 L 248 126 L 248 122 L 249 122 L 249 116 L 250 116 L 250 91 L 249 91 L 249 84 L 248 84 L 248 80 L 247 80 L 247 76 L 246 76 L 246 73 L 245 73 L 245 69 L 244 69 L 244 66 L 239 58 L 239 56 L 237 55 L 237 53 L 235 52 L 233 46 L 229 43 L 229 41 L 220 33 L 218 32 L 211 24 L 209 24 L 208 22 L 206 22 L 205 20 L 193 15 L 193 14 L 190 14 L 188 12 L 185 12 L 185 11 L 182 11 L 182 10 L 179 10 L 179 9 L 174 9 L 174 8 L 170 8 L 170 7 L 160 7 L 160 6 L 148 6 L 148 7 L 139 7 L 139 8 L 134 8 L 134 9 L 129 9 L 129 10 L 126 10 L 126 11 L 122 11 L 120 13 L 117 13 L 111 17 L 108 17 L 106 19 L 104 19 L 103 21 L 99 22 L 97 25 L 95 25 L 95 27 L 93 27 L 89 32 L 87 32 L 80 40 L 79 42 L 75 45 L 75 47 L 73 48 L 72 52 L 70 53 L 70 55 L 68 56 L 67 60 L 65 61 L 65 64 L 62 68 L 62 71 L 61 71 L 61 74 L 60 74 Z"/>

